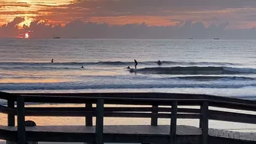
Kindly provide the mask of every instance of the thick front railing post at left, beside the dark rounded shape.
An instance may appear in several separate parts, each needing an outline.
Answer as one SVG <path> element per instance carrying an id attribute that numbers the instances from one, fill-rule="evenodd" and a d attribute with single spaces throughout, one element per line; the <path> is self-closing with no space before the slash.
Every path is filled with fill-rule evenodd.
<path id="1" fill-rule="evenodd" d="M 18 117 L 18 144 L 25 144 L 26 143 L 26 136 L 25 136 L 25 115 L 24 115 L 24 98 L 18 97 L 17 98 L 17 117 Z"/>

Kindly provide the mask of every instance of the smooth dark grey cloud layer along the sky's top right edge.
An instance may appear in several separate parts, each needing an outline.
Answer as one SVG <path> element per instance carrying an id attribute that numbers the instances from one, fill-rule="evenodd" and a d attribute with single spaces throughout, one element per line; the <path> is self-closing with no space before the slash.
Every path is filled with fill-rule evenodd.
<path id="1" fill-rule="evenodd" d="M 90 8 L 91 13 L 170 15 L 183 11 L 218 11 L 226 8 L 256 7 L 254 0 L 104 0 L 73 2 L 70 8 Z"/>

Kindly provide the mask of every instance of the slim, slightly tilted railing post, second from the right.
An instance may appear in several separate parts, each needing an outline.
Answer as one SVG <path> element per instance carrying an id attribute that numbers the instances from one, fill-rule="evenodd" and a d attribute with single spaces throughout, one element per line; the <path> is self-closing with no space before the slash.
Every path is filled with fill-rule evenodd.
<path id="1" fill-rule="evenodd" d="M 170 128 L 171 144 L 176 144 L 177 111 L 178 111 L 178 102 L 173 101 L 171 104 L 171 128 Z"/>

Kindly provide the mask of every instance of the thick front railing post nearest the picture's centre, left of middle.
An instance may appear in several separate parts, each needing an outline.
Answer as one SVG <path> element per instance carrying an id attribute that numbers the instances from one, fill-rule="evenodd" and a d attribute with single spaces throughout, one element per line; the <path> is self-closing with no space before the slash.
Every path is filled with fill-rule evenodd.
<path id="1" fill-rule="evenodd" d="M 96 144 L 103 144 L 103 126 L 104 126 L 104 100 L 97 101 L 97 117 L 96 117 Z"/>

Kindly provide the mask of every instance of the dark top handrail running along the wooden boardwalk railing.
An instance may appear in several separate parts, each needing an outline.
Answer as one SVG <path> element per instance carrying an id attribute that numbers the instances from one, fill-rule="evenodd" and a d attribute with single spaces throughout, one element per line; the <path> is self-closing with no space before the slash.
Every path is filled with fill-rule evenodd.
<path id="1" fill-rule="evenodd" d="M 179 105 L 200 105 L 200 102 L 208 101 L 210 106 L 228 106 L 234 108 L 239 106 L 249 107 L 251 110 L 256 110 L 256 101 L 248 101 L 236 98 L 226 98 L 207 94 L 170 94 L 170 93 L 5 93 L 0 92 L 2 99 L 16 99 L 18 95 L 26 98 L 28 102 L 47 102 L 47 103 L 78 103 L 82 104 L 85 101 L 90 101 L 96 104 L 97 99 L 104 99 L 105 104 L 170 104 L 171 101 L 178 101 Z M 219 106 L 218 106 L 219 105 Z M 243 109 L 244 110 L 244 109 Z M 248 110 L 248 108 L 245 108 Z"/>

